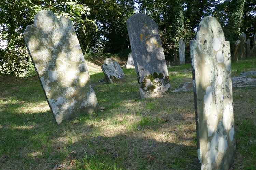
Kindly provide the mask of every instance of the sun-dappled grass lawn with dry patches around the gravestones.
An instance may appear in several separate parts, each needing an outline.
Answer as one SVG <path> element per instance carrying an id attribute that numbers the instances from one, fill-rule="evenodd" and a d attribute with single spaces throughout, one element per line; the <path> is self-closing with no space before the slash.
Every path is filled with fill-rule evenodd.
<path id="1" fill-rule="evenodd" d="M 190 64 L 169 68 L 171 90 L 191 81 Z M 232 75 L 256 59 L 232 64 Z M 136 74 L 98 83 L 103 112 L 57 125 L 37 77 L 0 77 L 0 169 L 199 169 L 193 92 L 140 99 Z M 170 90 L 170 91 L 171 91 Z M 237 151 L 232 169 L 256 169 L 256 88 L 233 89 Z"/>

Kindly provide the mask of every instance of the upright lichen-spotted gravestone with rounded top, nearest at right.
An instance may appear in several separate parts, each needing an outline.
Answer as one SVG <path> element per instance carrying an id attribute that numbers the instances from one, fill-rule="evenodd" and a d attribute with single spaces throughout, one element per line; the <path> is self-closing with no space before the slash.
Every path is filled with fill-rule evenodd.
<path id="1" fill-rule="evenodd" d="M 214 17 L 199 23 L 190 49 L 201 169 L 228 170 L 236 147 L 230 45 Z"/>

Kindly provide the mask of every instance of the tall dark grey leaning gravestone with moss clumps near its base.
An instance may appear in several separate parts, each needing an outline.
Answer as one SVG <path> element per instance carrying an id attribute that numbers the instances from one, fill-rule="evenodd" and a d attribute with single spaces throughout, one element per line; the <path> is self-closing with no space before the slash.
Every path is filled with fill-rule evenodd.
<path id="1" fill-rule="evenodd" d="M 158 26 L 142 13 L 130 17 L 126 24 L 141 98 L 161 96 L 171 85 Z"/>

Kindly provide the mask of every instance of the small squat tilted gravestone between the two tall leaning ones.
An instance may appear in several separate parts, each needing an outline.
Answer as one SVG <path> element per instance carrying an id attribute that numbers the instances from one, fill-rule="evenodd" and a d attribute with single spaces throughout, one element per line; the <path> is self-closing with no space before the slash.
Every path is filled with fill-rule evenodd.
<path id="1" fill-rule="evenodd" d="M 101 66 L 101 69 L 105 75 L 106 81 L 110 84 L 124 80 L 124 73 L 120 65 L 107 58 L 104 60 L 104 64 Z"/>

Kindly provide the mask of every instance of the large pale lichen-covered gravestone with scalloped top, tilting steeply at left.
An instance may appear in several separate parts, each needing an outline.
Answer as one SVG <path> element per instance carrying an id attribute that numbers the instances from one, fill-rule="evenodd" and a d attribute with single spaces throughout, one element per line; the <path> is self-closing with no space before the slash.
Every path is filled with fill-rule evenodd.
<path id="1" fill-rule="evenodd" d="M 23 36 L 57 124 L 97 111 L 97 98 L 73 22 L 43 10 Z"/>

